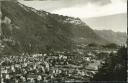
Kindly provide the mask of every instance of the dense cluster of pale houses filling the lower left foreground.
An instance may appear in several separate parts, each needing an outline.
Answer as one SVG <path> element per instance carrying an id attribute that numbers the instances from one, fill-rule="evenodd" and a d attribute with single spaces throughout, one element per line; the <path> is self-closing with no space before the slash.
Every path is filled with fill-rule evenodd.
<path id="1" fill-rule="evenodd" d="M 84 69 L 84 65 L 73 63 L 73 57 L 63 54 L 2 57 L 0 58 L 1 83 L 89 80 L 94 72 Z"/>

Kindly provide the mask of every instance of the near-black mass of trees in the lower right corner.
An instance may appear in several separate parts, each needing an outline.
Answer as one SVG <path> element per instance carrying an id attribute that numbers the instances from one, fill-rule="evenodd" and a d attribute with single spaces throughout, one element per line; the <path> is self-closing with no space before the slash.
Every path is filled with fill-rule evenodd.
<path id="1" fill-rule="evenodd" d="M 117 55 L 113 53 L 106 59 L 105 63 L 99 68 L 97 74 L 91 81 L 125 81 L 127 76 L 127 48 L 122 47 L 118 50 Z"/>

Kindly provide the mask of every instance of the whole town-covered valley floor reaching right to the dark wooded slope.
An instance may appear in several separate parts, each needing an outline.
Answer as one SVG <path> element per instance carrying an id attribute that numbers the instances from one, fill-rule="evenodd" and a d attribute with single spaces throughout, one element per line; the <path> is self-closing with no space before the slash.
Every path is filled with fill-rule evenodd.
<path id="1" fill-rule="evenodd" d="M 0 79 L 1 83 L 88 82 L 109 54 L 110 50 L 79 49 L 77 53 L 3 56 Z"/>

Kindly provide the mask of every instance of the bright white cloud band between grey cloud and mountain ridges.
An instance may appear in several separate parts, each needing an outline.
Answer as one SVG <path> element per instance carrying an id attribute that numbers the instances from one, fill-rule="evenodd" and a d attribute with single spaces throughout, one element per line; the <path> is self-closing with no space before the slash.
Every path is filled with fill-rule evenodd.
<path id="1" fill-rule="evenodd" d="M 111 0 L 111 3 L 103 6 L 88 3 L 86 5 L 54 10 L 52 13 L 80 18 L 99 17 L 119 13 L 127 13 L 127 3 L 123 2 L 122 0 Z"/>

